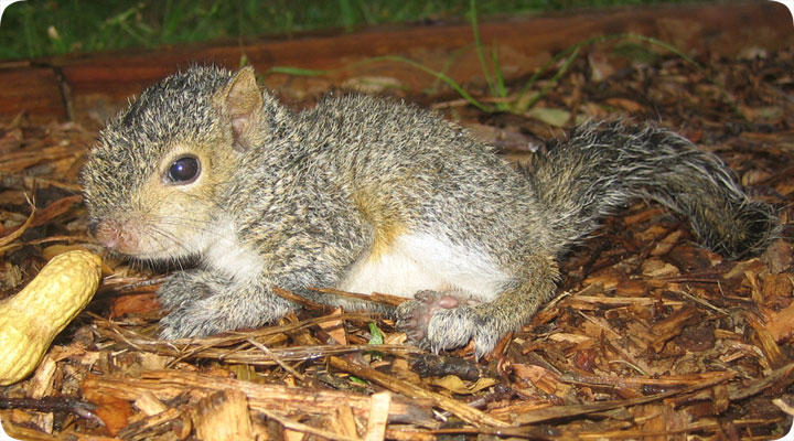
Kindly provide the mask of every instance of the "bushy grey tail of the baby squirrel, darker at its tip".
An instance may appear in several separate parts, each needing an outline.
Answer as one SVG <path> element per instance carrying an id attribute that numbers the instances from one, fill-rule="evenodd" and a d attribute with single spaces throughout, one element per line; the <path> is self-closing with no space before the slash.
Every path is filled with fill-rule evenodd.
<path id="1" fill-rule="evenodd" d="M 702 244 L 730 258 L 763 251 L 780 230 L 774 209 L 750 201 L 717 157 L 667 130 L 586 125 L 535 165 L 527 175 L 558 243 L 589 234 L 634 197 L 686 214 Z"/>

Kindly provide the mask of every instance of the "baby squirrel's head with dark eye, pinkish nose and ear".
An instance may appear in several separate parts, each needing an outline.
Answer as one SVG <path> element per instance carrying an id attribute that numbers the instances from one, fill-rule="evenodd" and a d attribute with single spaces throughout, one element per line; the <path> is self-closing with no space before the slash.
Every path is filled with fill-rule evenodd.
<path id="1" fill-rule="evenodd" d="M 250 67 L 193 66 L 147 88 L 86 158 L 89 232 L 142 260 L 202 254 L 218 239 L 223 190 L 246 152 L 266 142 L 275 114 L 264 100 L 275 103 Z"/>

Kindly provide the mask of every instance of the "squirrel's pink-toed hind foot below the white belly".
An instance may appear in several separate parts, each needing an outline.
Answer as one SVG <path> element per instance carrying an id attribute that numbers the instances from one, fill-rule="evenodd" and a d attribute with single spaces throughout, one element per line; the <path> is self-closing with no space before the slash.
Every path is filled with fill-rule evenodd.
<path id="1" fill-rule="evenodd" d="M 397 308 L 397 327 L 421 347 L 433 352 L 460 347 L 474 338 L 478 357 L 502 337 L 498 325 L 478 313 L 478 302 L 451 293 L 419 291 Z"/>

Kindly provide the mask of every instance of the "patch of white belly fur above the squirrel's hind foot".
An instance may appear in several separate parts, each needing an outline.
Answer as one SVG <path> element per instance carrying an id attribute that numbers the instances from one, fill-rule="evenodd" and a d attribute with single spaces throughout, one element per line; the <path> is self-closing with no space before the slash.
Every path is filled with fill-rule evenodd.
<path id="1" fill-rule="evenodd" d="M 337 288 L 406 298 L 420 290 L 455 290 L 489 301 L 508 279 L 484 252 L 420 233 L 399 236 L 378 256 L 364 256 Z"/>

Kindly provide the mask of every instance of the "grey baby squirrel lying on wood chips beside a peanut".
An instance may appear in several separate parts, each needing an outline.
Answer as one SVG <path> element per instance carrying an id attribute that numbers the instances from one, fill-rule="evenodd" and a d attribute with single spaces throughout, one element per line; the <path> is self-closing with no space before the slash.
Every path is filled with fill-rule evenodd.
<path id="1" fill-rule="evenodd" d="M 273 292 L 380 309 L 433 351 L 489 353 L 556 290 L 556 259 L 627 201 L 689 216 L 731 258 L 779 232 L 712 154 L 667 130 L 590 123 L 511 166 L 458 125 L 368 96 L 292 111 L 254 69 L 193 66 L 110 121 L 81 175 L 89 230 L 111 250 L 183 262 L 159 291 L 163 338 L 273 322 Z M 395 311 L 308 287 L 411 298 Z"/>

